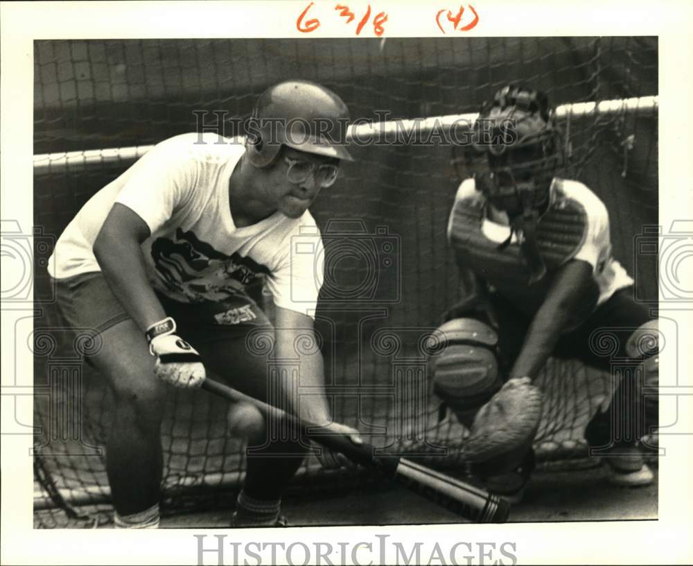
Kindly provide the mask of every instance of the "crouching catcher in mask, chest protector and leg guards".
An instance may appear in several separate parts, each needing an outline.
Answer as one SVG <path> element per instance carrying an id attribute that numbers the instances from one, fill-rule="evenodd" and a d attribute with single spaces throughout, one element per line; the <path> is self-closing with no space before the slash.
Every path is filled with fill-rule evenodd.
<path id="1" fill-rule="evenodd" d="M 501 89 L 477 119 L 473 177 L 460 185 L 448 223 L 471 292 L 439 329 L 435 392 L 471 429 L 466 452 L 476 474 L 514 501 L 534 468 L 541 392 L 532 381 L 550 356 L 607 371 L 611 356 L 641 364 L 585 436 L 591 453 L 605 456 L 611 482 L 653 481 L 639 441 L 657 424 L 657 322 L 611 255 L 604 204 L 557 177 L 562 162 L 547 96 Z M 616 344 L 611 356 L 599 336 Z"/>

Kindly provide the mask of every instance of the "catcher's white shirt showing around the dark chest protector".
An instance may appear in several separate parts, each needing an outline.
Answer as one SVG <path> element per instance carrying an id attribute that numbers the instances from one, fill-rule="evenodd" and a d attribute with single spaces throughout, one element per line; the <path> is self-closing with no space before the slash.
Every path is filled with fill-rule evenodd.
<path id="1" fill-rule="evenodd" d="M 466 179 L 457 191 L 457 200 L 466 198 L 476 191 L 474 179 Z M 554 179 L 551 184 L 550 198 L 554 203 L 556 198 L 572 198 L 580 203 L 587 213 L 587 233 L 582 246 L 574 259 L 581 259 L 592 266 L 592 273 L 599 286 L 599 300 L 602 305 L 619 289 L 631 286 L 633 279 L 623 266 L 611 255 L 611 234 L 609 232 L 608 211 L 586 185 L 568 179 Z M 448 237 L 450 227 L 448 226 Z M 484 218 L 482 233 L 491 241 L 501 243 L 510 235 L 509 222 L 494 222 Z M 511 242 L 517 243 L 517 234 L 512 234 Z"/>

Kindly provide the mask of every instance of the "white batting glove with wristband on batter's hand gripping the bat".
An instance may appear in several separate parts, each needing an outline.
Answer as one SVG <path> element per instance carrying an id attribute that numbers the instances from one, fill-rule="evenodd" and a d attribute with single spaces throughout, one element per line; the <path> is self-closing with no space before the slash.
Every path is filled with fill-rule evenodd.
<path id="1" fill-rule="evenodd" d="M 147 329 L 149 351 L 157 358 L 155 373 L 176 387 L 200 387 L 206 377 L 200 354 L 175 330 L 175 320 L 170 316 Z"/>

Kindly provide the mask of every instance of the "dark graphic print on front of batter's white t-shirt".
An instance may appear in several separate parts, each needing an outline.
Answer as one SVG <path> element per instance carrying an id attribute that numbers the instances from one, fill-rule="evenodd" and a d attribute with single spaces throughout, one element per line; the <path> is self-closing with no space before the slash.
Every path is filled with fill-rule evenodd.
<path id="1" fill-rule="evenodd" d="M 252 258 L 238 252 L 226 255 L 181 228 L 176 229 L 175 240 L 153 241 L 151 254 L 159 280 L 191 302 L 223 300 L 270 275 L 266 266 Z"/>

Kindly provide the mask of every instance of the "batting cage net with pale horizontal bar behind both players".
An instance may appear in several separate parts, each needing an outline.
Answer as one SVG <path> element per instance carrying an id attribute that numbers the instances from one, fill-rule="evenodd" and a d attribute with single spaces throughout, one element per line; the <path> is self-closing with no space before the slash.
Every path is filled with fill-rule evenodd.
<path id="1" fill-rule="evenodd" d="M 634 254 L 638 238 L 652 237 L 643 227 L 657 223 L 656 38 L 40 41 L 34 56 L 37 527 L 91 526 L 111 514 L 103 444 L 112 395 L 82 363 L 98 345 L 64 329 L 55 309 L 45 268 L 55 239 L 148 146 L 217 123 L 214 111 L 227 112 L 221 133 L 243 133 L 236 128 L 258 95 L 280 80 L 322 83 L 371 123 L 358 126 L 356 161 L 311 210 L 326 248 L 317 332 L 328 395 L 335 420 L 374 445 L 464 472 L 466 431 L 430 392 L 426 340 L 465 287 L 446 243 L 467 174 L 449 126 L 473 119 L 503 85 L 542 89 L 558 107 L 570 156 L 563 176 L 604 200 L 615 257 L 637 297 L 656 301 L 656 255 Z M 414 136 L 387 134 L 398 130 Z M 609 354 L 608 343 L 595 347 Z M 611 375 L 552 360 L 540 382 L 538 458 L 577 466 Z M 162 402 L 164 513 L 231 505 L 244 451 L 227 434 L 225 404 L 173 388 Z M 293 488 L 344 489 L 355 473 L 322 470 L 311 456 Z"/>

